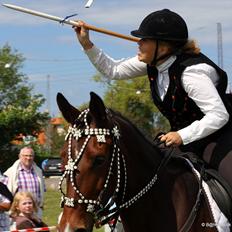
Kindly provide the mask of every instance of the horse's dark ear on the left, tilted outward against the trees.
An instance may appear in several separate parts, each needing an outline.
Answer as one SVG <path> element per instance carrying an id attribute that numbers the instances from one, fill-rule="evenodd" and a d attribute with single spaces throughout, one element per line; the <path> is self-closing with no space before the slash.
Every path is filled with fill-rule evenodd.
<path id="1" fill-rule="evenodd" d="M 65 120 L 73 124 L 79 116 L 80 111 L 72 106 L 61 93 L 57 94 L 56 101 Z"/>

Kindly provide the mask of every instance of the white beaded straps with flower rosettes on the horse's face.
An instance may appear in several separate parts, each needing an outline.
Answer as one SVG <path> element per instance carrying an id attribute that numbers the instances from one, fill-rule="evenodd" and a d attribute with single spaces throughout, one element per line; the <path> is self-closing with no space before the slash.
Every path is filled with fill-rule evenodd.
<path id="1" fill-rule="evenodd" d="M 100 206 L 100 194 L 99 194 L 99 197 L 97 198 L 97 200 L 86 199 L 86 197 L 77 188 L 75 181 L 74 181 L 75 179 L 74 179 L 73 173 L 75 170 L 77 170 L 77 165 L 78 165 L 78 163 L 79 163 L 79 161 L 84 153 L 84 150 L 85 150 L 91 136 L 96 136 L 97 142 L 105 143 L 106 136 L 113 135 L 115 137 L 115 139 L 119 139 L 120 133 L 119 133 L 117 126 L 115 126 L 112 129 L 112 131 L 110 129 L 106 129 L 106 128 L 90 128 L 88 123 L 87 123 L 88 112 L 89 112 L 89 109 L 86 109 L 78 117 L 78 120 L 80 120 L 81 118 L 84 119 L 84 124 L 85 124 L 86 128 L 85 129 L 78 129 L 77 125 L 74 124 L 73 126 L 69 127 L 68 133 L 65 137 L 65 140 L 68 141 L 68 161 L 67 161 L 67 164 L 65 165 L 65 171 L 64 171 L 64 173 L 60 179 L 60 182 L 59 182 L 59 190 L 61 191 L 61 193 L 63 195 L 61 198 L 61 205 L 64 204 L 64 205 L 69 206 L 69 207 L 74 207 L 75 203 L 87 204 L 87 212 L 93 213 L 95 210 L 95 206 Z M 85 141 L 84 141 L 80 151 L 75 151 L 75 153 L 76 153 L 75 159 L 73 159 L 72 158 L 72 139 L 74 138 L 76 141 L 78 141 L 82 137 L 86 137 Z M 109 183 L 110 174 L 112 173 L 112 167 L 113 167 L 113 163 L 115 160 L 115 156 L 117 156 L 117 164 L 118 164 L 117 176 L 118 176 L 118 178 L 117 178 L 116 189 L 115 189 L 116 192 L 119 192 L 119 187 L 120 187 L 120 155 L 119 154 L 120 154 L 120 149 L 116 146 L 116 144 L 114 144 L 113 154 L 112 154 L 112 158 L 111 158 L 111 162 L 110 162 L 110 167 L 109 167 L 108 175 L 106 177 L 105 184 L 104 184 L 104 189 L 106 189 L 108 186 L 108 183 Z M 72 187 L 75 190 L 75 192 L 79 195 L 78 200 L 74 200 L 74 198 L 69 198 L 69 197 L 65 196 L 65 194 L 62 190 L 62 182 L 66 176 L 70 177 Z M 103 189 L 103 191 L 104 191 L 104 189 Z"/>

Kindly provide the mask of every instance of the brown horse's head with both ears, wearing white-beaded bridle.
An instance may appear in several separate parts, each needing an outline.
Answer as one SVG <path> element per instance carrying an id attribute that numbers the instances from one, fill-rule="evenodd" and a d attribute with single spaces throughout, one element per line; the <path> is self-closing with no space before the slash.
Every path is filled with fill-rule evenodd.
<path id="1" fill-rule="evenodd" d="M 103 101 L 95 93 L 91 93 L 89 108 L 82 112 L 61 93 L 57 103 L 70 124 L 61 152 L 65 171 L 60 182 L 64 207 L 60 230 L 90 232 L 97 212 L 118 191 L 119 178 L 112 176 L 113 163 L 117 162 L 118 128 L 109 120 Z M 64 180 L 66 193 L 62 189 Z M 109 186 L 109 181 L 115 188 Z"/>

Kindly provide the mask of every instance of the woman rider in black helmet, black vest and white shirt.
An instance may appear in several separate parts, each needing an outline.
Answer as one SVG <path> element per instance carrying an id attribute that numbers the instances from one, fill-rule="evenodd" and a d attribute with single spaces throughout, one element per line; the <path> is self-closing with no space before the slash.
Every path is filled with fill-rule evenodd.
<path id="1" fill-rule="evenodd" d="M 137 56 L 114 60 L 90 40 L 84 23 L 74 28 L 93 65 L 110 79 L 148 75 L 154 104 L 171 130 L 160 137 L 167 146 L 194 152 L 232 186 L 232 109 L 227 75 L 188 38 L 183 18 L 155 11 L 131 34 L 140 38 Z"/>

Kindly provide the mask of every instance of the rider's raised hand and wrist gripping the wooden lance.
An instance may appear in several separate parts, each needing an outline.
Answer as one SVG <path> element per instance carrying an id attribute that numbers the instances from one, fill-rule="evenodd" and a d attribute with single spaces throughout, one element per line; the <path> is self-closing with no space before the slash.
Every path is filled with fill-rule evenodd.
<path id="1" fill-rule="evenodd" d="M 93 43 L 89 39 L 89 30 L 85 27 L 85 23 L 83 21 L 77 21 L 79 26 L 73 26 L 77 38 L 81 44 L 81 46 L 88 50 L 93 47 Z"/>

